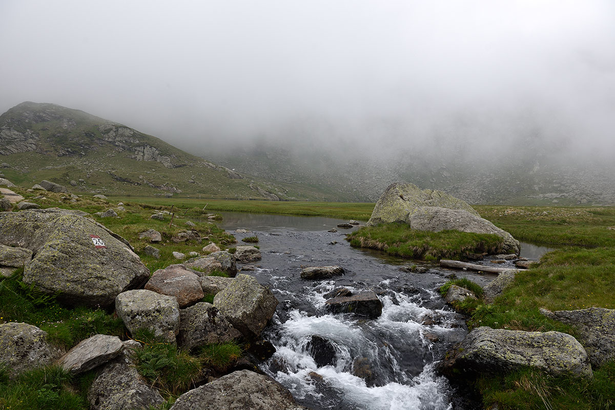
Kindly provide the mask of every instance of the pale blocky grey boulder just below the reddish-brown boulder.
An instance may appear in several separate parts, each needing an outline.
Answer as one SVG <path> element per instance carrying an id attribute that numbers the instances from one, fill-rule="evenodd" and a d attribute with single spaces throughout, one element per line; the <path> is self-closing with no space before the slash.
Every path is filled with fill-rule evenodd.
<path id="1" fill-rule="evenodd" d="M 180 305 L 173 296 L 151 290 L 129 290 L 116 298 L 116 313 L 132 335 L 149 330 L 167 342 L 180 331 Z"/>

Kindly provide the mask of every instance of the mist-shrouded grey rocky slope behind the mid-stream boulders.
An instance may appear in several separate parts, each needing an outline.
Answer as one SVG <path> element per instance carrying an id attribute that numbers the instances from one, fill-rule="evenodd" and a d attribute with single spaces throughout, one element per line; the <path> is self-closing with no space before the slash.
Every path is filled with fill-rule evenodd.
<path id="1" fill-rule="evenodd" d="M 351 201 L 376 201 L 392 182 L 446 191 L 472 204 L 615 204 L 615 164 L 554 158 L 549 147 L 485 152 L 469 160 L 440 153 L 296 152 L 284 144 L 244 145 L 240 151 L 209 153 L 216 163 L 239 172 L 294 184 L 315 184 Z M 348 199 L 346 199 L 348 200 Z"/>

